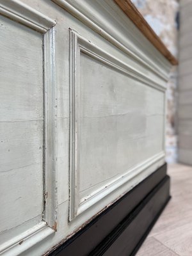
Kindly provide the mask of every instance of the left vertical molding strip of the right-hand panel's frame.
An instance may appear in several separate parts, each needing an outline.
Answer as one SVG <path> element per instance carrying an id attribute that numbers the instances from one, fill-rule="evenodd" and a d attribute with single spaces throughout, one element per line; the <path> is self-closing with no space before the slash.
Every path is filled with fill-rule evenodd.
<path id="1" fill-rule="evenodd" d="M 77 215 L 77 205 L 79 204 L 79 184 L 78 180 L 78 141 L 79 141 L 79 90 L 80 75 L 79 65 L 80 52 L 77 45 L 77 35 L 69 29 L 70 42 L 70 213 L 69 220 Z M 79 60 L 79 61 L 78 61 Z"/>

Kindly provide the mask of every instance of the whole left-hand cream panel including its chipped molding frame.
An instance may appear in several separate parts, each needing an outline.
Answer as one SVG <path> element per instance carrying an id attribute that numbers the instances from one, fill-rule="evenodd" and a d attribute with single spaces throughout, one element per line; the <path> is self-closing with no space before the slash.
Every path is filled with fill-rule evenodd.
<path id="1" fill-rule="evenodd" d="M 2 1 L 0 13 L 5 16 L 0 21 L 0 254 L 20 255 L 55 229 L 50 89 L 55 22 L 19 1 Z M 44 206 L 47 186 L 52 193 Z"/>

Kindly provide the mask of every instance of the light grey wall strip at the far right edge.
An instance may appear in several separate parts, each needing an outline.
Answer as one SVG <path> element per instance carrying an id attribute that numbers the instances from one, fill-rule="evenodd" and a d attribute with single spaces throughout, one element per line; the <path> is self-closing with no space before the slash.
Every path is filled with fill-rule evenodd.
<path id="1" fill-rule="evenodd" d="M 179 162 L 192 164 L 192 1 L 180 1 Z"/>

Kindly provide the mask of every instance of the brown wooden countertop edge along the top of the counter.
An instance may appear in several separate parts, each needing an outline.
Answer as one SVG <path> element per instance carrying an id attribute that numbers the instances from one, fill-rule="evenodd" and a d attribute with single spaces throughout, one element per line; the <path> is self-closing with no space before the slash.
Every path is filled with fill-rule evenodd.
<path id="1" fill-rule="evenodd" d="M 177 59 L 163 44 L 159 36 L 156 35 L 154 30 L 148 25 L 147 21 L 143 18 L 138 9 L 132 4 L 131 0 L 114 0 L 116 4 L 124 11 L 124 13 L 132 20 L 132 22 L 140 29 L 141 33 L 156 47 L 156 49 L 163 54 L 163 56 L 172 63 L 177 65 Z"/>

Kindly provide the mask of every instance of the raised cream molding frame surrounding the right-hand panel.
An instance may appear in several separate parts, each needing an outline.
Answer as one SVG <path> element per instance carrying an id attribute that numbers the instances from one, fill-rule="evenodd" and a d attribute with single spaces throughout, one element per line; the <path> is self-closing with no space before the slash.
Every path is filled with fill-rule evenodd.
<path id="1" fill-rule="evenodd" d="M 145 83 L 156 90 L 165 93 L 166 88 L 161 84 L 154 83 L 148 77 L 143 76 L 137 70 L 130 67 L 126 63 L 111 56 L 108 52 L 103 51 L 90 41 L 83 38 L 76 31 L 69 29 L 70 33 L 70 207 L 69 207 L 69 220 L 72 221 L 79 214 L 86 211 L 92 205 L 96 204 L 109 195 L 116 189 L 127 184 L 130 180 L 136 178 L 143 170 L 147 169 L 152 164 L 157 163 L 164 158 L 164 145 L 162 151 L 155 156 L 150 157 L 146 161 L 137 164 L 127 172 L 120 175 L 120 177 L 112 180 L 102 188 L 97 189 L 89 196 L 79 200 L 79 124 L 80 124 L 80 54 L 81 52 L 88 54 L 92 58 L 105 63 L 109 67 L 115 68 L 118 72 L 126 74 Z M 163 124 L 164 125 L 164 124 Z"/>

